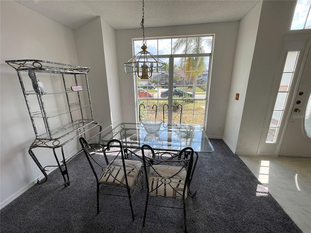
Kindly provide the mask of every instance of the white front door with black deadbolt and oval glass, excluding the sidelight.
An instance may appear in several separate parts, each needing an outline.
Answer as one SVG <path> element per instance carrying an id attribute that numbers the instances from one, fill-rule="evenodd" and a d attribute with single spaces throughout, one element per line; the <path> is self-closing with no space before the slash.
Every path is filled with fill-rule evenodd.
<path id="1" fill-rule="evenodd" d="M 302 75 L 294 96 L 294 105 L 288 120 L 279 156 L 311 157 L 311 125 L 306 117 L 307 106 L 311 95 L 311 49 L 306 63 L 302 67 Z M 309 104 L 308 104 L 309 103 Z M 310 111 L 310 110 L 309 110 Z M 309 134 L 309 135 L 308 135 Z"/>

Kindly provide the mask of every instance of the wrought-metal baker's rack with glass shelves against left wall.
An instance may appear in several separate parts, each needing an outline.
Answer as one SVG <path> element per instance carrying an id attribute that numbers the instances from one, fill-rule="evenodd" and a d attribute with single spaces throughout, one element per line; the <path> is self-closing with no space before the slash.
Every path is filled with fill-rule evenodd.
<path id="1" fill-rule="evenodd" d="M 90 68 L 42 60 L 5 61 L 17 76 L 35 131 L 28 152 L 48 179 L 47 167 L 58 166 L 65 186 L 70 184 L 63 147 L 81 134 L 91 134 L 102 126 L 94 120 L 87 81 Z M 88 117 L 87 117 L 88 116 Z M 41 166 L 36 148 L 53 150 L 57 165 Z M 57 152 L 61 151 L 61 159 Z"/>

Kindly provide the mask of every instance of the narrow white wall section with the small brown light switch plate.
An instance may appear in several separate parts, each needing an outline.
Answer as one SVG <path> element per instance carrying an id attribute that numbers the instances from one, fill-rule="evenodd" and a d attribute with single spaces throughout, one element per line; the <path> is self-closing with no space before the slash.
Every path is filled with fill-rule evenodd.
<path id="1" fill-rule="evenodd" d="M 259 25 L 261 4 L 262 2 L 260 1 L 242 18 L 239 27 L 223 136 L 225 143 L 233 152 L 235 152 L 238 143 L 248 77 L 252 65 Z M 236 93 L 240 94 L 239 100 L 235 100 Z"/>

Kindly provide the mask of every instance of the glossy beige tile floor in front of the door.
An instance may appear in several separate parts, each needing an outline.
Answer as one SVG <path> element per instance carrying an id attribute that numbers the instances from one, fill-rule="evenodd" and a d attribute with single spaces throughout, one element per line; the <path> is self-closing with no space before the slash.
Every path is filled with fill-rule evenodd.
<path id="1" fill-rule="evenodd" d="M 303 233 L 311 233 L 311 159 L 239 157 Z"/>

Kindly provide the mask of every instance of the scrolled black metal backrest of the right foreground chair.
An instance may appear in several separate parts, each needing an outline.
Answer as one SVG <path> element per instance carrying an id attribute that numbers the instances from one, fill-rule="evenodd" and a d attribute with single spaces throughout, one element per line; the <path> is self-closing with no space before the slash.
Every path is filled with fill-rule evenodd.
<path id="1" fill-rule="evenodd" d="M 193 149 L 187 147 L 175 153 L 155 152 L 151 146 L 143 145 L 141 152 L 149 196 L 187 198 L 187 186 L 193 168 Z"/>

